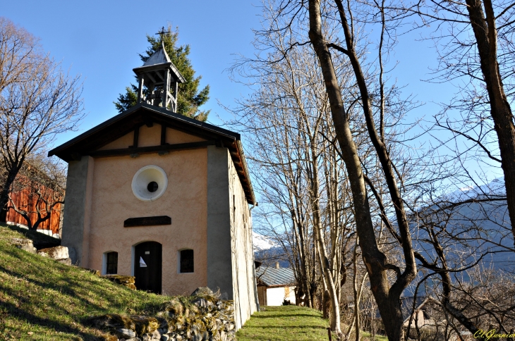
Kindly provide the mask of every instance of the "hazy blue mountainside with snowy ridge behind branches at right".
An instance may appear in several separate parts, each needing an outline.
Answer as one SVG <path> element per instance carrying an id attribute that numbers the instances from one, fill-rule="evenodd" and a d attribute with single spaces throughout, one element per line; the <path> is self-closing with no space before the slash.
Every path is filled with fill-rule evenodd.
<path id="1" fill-rule="evenodd" d="M 445 195 L 451 203 L 467 199 L 485 199 L 487 197 L 504 197 L 504 179 L 498 178 L 487 185 L 466 187 Z M 452 210 L 448 216 L 444 212 L 435 214 L 435 221 L 440 225 L 440 242 L 447 254 L 447 261 L 454 268 L 461 268 L 478 260 L 481 254 L 483 266 L 492 266 L 496 270 L 515 271 L 514 238 L 507 204 L 504 200 L 495 202 L 472 202 Z M 445 226 L 443 229 L 442 226 Z M 414 246 L 422 250 L 424 256 L 435 259 L 435 251 L 428 242 L 428 235 L 423 229 L 413 224 Z"/>

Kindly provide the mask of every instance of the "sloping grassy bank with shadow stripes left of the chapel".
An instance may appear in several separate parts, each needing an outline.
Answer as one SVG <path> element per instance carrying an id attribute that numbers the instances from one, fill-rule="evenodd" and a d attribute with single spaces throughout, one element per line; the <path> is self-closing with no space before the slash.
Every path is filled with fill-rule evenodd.
<path id="1" fill-rule="evenodd" d="M 169 297 L 129 290 L 75 266 L 11 246 L 11 238 L 54 238 L 0 224 L 0 340 L 97 340 L 85 319 L 152 314 Z"/>

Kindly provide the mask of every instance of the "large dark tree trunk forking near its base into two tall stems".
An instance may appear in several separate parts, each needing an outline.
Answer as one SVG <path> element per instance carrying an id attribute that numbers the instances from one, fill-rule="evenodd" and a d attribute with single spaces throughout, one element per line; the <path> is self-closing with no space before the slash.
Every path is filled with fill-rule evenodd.
<path id="1" fill-rule="evenodd" d="M 377 247 L 375 239 L 375 232 L 372 225 L 372 218 L 370 215 L 370 205 L 368 202 L 367 192 L 365 188 L 365 181 L 363 178 L 363 170 L 360 166 L 360 159 L 356 149 L 356 144 L 351 135 L 349 127 L 349 120 L 347 113 L 344 109 L 344 103 L 341 97 L 341 89 L 334 72 L 334 66 L 331 60 L 331 54 L 327 46 L 327 42 L 322 35 L 322 19 L 320 13 L 320 0 L 309 1 L 309 20 L 310 42 L 313 44 L 313 49 L 317 54 L 322 68 L 322 75 L 324 76 L 327 96 L 332 112 L 332 119 L 334 123 L 335 132 L 341 148 L 349 181 L 351 183 L 351 191 L 353 194 L 353 206 L 356 213 L 356 230 L 361 243 L 361 250 L 363 252 L 363 262 L 367 267 L 368 274 L 370 275 L 370 289 L 374 294 L 377 306 L 380 309 L 384 329 L 387 332 L 389 340 L 404 340 L 403 318 L 401 313 L 400 296 L 404 288 L 415 278 L 416 263 L 413 256 L 413 249 L 411 247 L 411 237 L 409 235 L 408 223 L 404 213 L 399 190 L 396 188 L 395 178 L 393 176 L 392 165 L 387 155 L 384 144 L 377 138 L 377 132 L 373 127 L 370 114 L 370 98 L 366 91 L 363 73 L 361 73 L 359 61 L 356 52 L 353 49 L 353 42 L 349 26 L 346 24 L 346 18 L 341 6 L 341 1 L 336 0 L 339 6 L 339 12 L 346 33 L 347 49 L 339 49 L 343 51 L 351 59 L 353 69 L 360 87 L 361 100 L 367 120 L 367 127 L 369 130 L 370 139 L 377 151 L 380 158 L 384 174 L 386 176 L 387 184 L 389 185 L 390 195 L 394 202 L 396 209 L 397 221 L 399 223 L 399 230 L 403 250 L 404 259 L 406 261 L 406 270 L 401 273 L 399 267 L 393 264 L 388 264 L 386 256 L 380 252 Z M 363 97 L 363 96 L 366 97 Z M 387 271 L 396 271 L 396 282 L 390 287 L 387 280 Z"/>

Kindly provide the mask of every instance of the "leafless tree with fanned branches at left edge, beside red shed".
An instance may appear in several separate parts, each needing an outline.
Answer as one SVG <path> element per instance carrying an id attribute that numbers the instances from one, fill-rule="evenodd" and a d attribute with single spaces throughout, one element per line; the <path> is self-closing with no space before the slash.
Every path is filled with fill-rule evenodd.
<path id="1" fill-rule="evenodd" d="M 1 208 L 30 153 L 77 128 L 81 93 L 79 76 L 63 72 L 34 36 L 0 17 L 0 153 L 7 173 Z"/>

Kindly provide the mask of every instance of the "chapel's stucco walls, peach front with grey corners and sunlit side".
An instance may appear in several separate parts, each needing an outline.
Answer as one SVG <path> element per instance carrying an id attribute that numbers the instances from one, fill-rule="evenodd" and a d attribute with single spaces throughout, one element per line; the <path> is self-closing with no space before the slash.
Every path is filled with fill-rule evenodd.
<path id="1" fill-rule="evenodd" d="M 159 125 L 143 125 L 138 145 L 159 144 L 160 131 Z M 132 140 L 130 133 L 102 149 L 126 148 Z M 202 138 L 195 135 L 166 130 L 167 143 L 199 140 Z M 131 182 L 133 175 L 148 165 L 163 168 L 169 182 L 162 197 L 141 202 L 133 195 Z M 164 293 L 190 294 L 206 285 L 219 288 L 235 301 L 236 328 L 256 311 L 250 210 L 228 149 L 209 146 L 136 158 L 83 156 L 70 163 L 68 186 L 63 242 L 76 245 L 81 266 L 102 270 L 103 255 L 118 252 L 118 273 L 133 275 L 133 247 L 140 242 L 159 242 Z M 127 218 L 142 216 L 170 216 L 172 223 L 123 228 Z M 178 273 L 181 249 L 195 251 L 195 273 Z"/>

